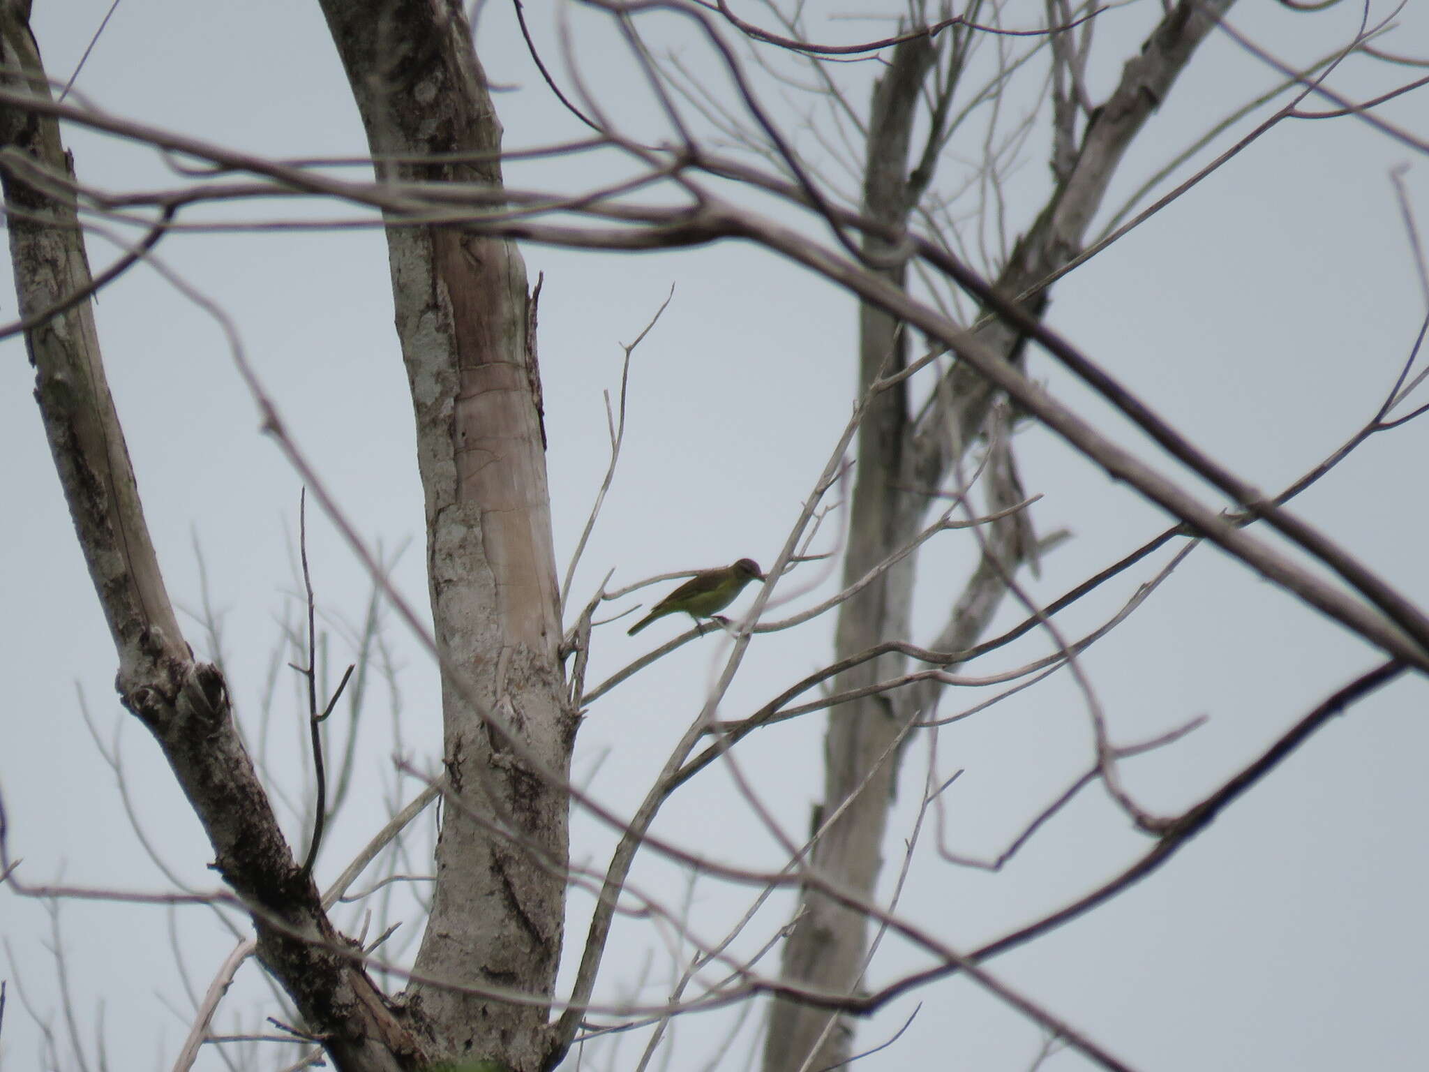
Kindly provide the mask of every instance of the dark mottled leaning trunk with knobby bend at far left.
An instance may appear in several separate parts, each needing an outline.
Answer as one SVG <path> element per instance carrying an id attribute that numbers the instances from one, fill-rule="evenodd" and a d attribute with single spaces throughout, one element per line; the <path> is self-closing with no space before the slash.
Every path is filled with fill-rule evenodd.
<path id="1" fill-rule="evenodd" d="M 3 76 L 49 99 L 29 4 L 0 9 Z M 26 71 L 21 77 L 14 71 Z M 293 859 L 233 723 L 223 675 L 179 629 L 110 397 L 87 297 L 89 260 L 59 124 L 0 107 L 6 226 L 36 400 L 119 653 L 120 699 L 154 735 L 213 846 L 214 868 L 252 909 L 257 955 L 343 1072 L 416 1068 L 419 1046 L 347 958 L 312 878 Z M 74 302 L 80 294 L 81 300 Z M 64 312 L 50 314 L 59 306 Z"/>

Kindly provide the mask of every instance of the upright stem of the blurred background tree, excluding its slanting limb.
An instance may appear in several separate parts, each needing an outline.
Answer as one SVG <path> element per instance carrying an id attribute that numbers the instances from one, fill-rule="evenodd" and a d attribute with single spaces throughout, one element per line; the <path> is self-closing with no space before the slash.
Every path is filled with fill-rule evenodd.
<path id="1" fill-rule="evenodd" d="M 935 59 L 935 49 L 925 37 L 900 44 L 873 91 L 863 212 L 895 230 L 903 227 L 913 207 L 907 180 L 909 143 L 917 93 Z M 877 259 L 889 256 L 892 247 L 870 239 L 865 252 Z M 883 274 L 897 286 L 905 282 L 902 264 L 886 269 Z M 859 310 L 860 390 L 879 376 L 902 369 L 906 347 L 900 323 L 882 309 L 863 304 Z M 902 502 L 907 499 L 907 492 L 899 490 L 906 487 L 906 443 L 907 399 L 905 386 L 899 386 L 872 400 L 859 429 L 857 477 L 843 566 L 846 586 L 913 536 L 909 526 L 917 519 Z M 910 555 L 842 606 L 835 637 L 836 659 L 872 647 L 889 636 L 907 636 L 915 567 L 916 559 Z M 896 675 L 902 663 L 897 655 L 870 659 L 839 675 L 835 690 L 873 685 Z M 812 866 L 837 875 L 860 892 L 873 888 L 882 865 L 886 802 L 892 793 L 895 763 L 875 763 L 899 733 L 893 715 L 886 695 L 865 696 L 829 713 L 825 810 L 832 812 L 859 786 L 860 798 L 876 803 L 849 808 L 833 822 L 815 846 Z M 860 915 L 815 889 L 805 890 L 800 909 L 803 915 L 785 946 L 785 976 L 790 982 L 832 983 L 829 989 L 855 985 L 863 971 L 866 941 Z M 839 1021 L 825 1033 L 827 1022 L 827 1012 L 777 1001 L 765 1043 L 765 1068 L 793 1072 L 816 1048 L 813 1068 L 825 1068 L 839 1059 L 837 1055 L 846 1055 L 852 1026 Z"/>

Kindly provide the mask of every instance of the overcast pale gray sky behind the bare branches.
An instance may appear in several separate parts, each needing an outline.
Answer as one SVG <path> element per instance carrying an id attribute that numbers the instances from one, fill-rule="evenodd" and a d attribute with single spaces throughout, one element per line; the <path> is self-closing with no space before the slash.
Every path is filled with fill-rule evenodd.
<path id="1" fill-rule="evenodd" d="M 873 6 L 879 3 L 883 13 L 897 10 L 882 0 Z M 1360 17 L 1348 3 L 1316 16 L 1272 7 L 1239 6 L 1233 20 L 1299 63 L 1343 43 Z M 36 33 L 51 76 L 74 70 L 106 10 L 100 0 L 36 0 Z M 533 3 L 529 10 L 539 40 L 559 61 L 554 9 Z M 845 13 L 842 6 L 829 10 Z M 1043 6 L 1016 0 L 1006 10 L 1009 24 L 1029 24 L 1042 17 Z M 1133 54 L 1159 10 L 1140 0 L 1106 13 L 1102 59 L 1092 71 L 1095 94 L 1113 84 L 1122 59 Z M 1390 9 L 1372 10 L 1383 17 Z M 636 130 L 653 129 L 656 113 L 614 39 L 589 11 L 572 17 L 582 73 L 594 96 L 610 113 L 629 116 Z M 1399 21 L 1403 29 L 1386 47 L 1406 51 L 1429 40 L 1423 4 L 1410 4 Z M 825 29 L 830 39 L 849 39 L 845 21 Z M 650 29 L 667 43 L 676 43 L 677 31 L 669 21 Z M 679 40 L 682 54 L 703 70 L 693 43 Z M 510 10 L 487 4 L 477 47 L 493 83 L 509 87 L 497 94 L 507 147 L 579 134 L 534 73 Z M 856 87 L 856 101 L 865 100 L 872 73 L 867 64 L 839 71 Z M 1408 67 L 1386 73 L 1356 61 L 1336 86 L 1369 97 L 1395 84 L 1390 79 L 1410 77 L 1415 71 Z M 1259 60 L 1223 36 L 1213 37 L 1136 143 L 1109 204 L 1275 80 Z M 316 4 L 127 0 L 76 89 L 114 114 L 254 153 L 364 152 Z M 795 126 L 779 107 L 776 99 L 776 113 Z M 1422 93 L 1388 104 L 1380 114 L 1429 136 Z M 1223 134 L 1198 160 L 1210 159 L 1252 123 Z M 146 150 L 73 129 L 67 142 L 84 182 L 114 190 L 177 183 Z M 817 152 L 807 137 L 800 144 Z M 1035 139 L 1010 183 L 1013 194 L 1042 189 L 1043 156 Z M 1355 119 L 1282 124 L 1060 282 L 1049 320 L 1220 462 L 1278 490 L 1373 413 L 1425 314 L 1390 182 L 1390 169 L 1399 164 L 1408 164 L 1403 182 L 1425 226 L 1429 160 L 1422 153 Z M 507 180 L 579 189 L 610 164 L 579 164 L 590 170 L 574 183 L 572 167 L 544 162 L 509 169 Z M 1030 199 L 1015 202 L 1009 226 L 1025 224 L 1035 206 Z M 272 212 L 356 214 L 297 202 Z M 302 447 L 359 530 L 389 550 L 412 542 L 396 577 L 423 606 L 422 499 L 382 233 L 200 234 L 169 239 L 160 252 L 237 326 Z M 113 246 L 91 236 L 96 269 L 113 256 Z M 852 406 L 852 300 L 745 244 L 659 256 L 529 247 L 526 256 L 532 279 L 546 276 L 540 356 L 562 570 L 606 466 L 602 392 L 619 383 L 620 343 L 636 337 L 674 287 L 663 319 L 634 352 L 624 455 L 573 600 L 583 602 L 609 569 L 616 570 L 612 583 L 622 585 L 746 555 L 767 565 Z M 0 289 L 6 319 L 14 313 L 11 294 Z M 209 312 L 140 269 L 103 293 L 96 314 L 170 592 L 186 607 L 200 609 L 196 549 L 201 550 L 247 732 L 252 739 L 267 735 L 272 778 L 300 796 L 307 760 L 290 672 L 282 670 L 267 705 L 272 722 L 262 718 L 273 645 L 280 620 L 292 613 L 299 480 L 262 435 Z M 23 344 L 10 339 L 3 353 L 0 667 L 7 686 L 0 789 L 11 853 L 24 858 L 30 882 L 63 878 L 90 886 L 170 888 L 131 832 L 114 773 L 81 719 L 83 696 L 103 746 L 116 748 L 123 759 L 130 805 L 154 849 L 180 880 L 211 889 L 214 876 L 204 868 L 209 848 L 197 823 L 153 742 L 114 699 L 113 647 L 54 477 Z M 1145 440 L 1040 356 L 1033 356 L 1032 372 L 1120 442 L 1152 455 Z M 1429 602 L 1426 447 L 1429 426 L 1422 423 L 1380 436 L 1298 500 L 1306 517 L 1420 605 Z M 1047 433 L 1029 429 L 1019 437 L 1019 452 L 1027 492 L 1043 496 L 1033 513 L 1039 529 L 1075 533 L 1043 563 L 1040 579 L 1029 580 L 1036 597 L 1056 597 L 1165 527 L 1156 509 Z M 1156 460 L 1173 472 L 1169 462 Z M 1209 493 L 1206 499 L 1213 500 Z M 320 600 L 333 620 L 360 620 L 369 592 L 363 570 L 324 519 L 314 517 L 310 529 Z M 973 562 L 973 547 L 966 535 L 952 533 L 925 550 L 915 640 L 937 629 Z M 1077 633 L 1103 620 L 1166 560 L 1163 553 L 1119 577 L 1069 613 L 1066 629 Z M 799 605 L 816 597 L 802 596 Z M 1019 617 L 1007 607 L 1000 622 Z M 756 637 L 722 715 L 737 718 L 825 662 L 832 619 L 820 622 Z M 633 639 L 619 626 L 602 630 L 590 680 L 670 635 L 667 623 Z M 324 880 L 380 825 L 396 779 L 394 749 L 424 768 L 440 759 L 434 667 L 390 616 L 386 636 L 400 667 L 402 740 L 394 745 L 389 732 L 392 698 L 374 683 L 360 738 L 357 795 L 326 846 L 319 866 Z M 197 625 L 190 639 L 214 655 Z M 334 637 L 333 645 L 333 662 L 346 660 L 343 642 Z M 723 650 L 722 637 L 706 637 L 589 712 L 576 773 L 592 779 L 596 796 L 617 810 L 634 808 L 699 712 Z M 1029 637 L 975 672 L 1017 666 L 1045 650 L 1043 639 Z M 1363 643 L 1205 547 L 1125 627 L 1085 656 L 1117 740 L 1209 716 L 1187 739 L 1125 768 L 1133 792 L 1149 808 L 1167 812 L 1199 799 L 1373 662 Z M 959 768 L 966 773 L 945 798 L 946 829 L 923 833 L 900 910 L 955 945 L 970 946 L 1065 903 L 1147 845 L 1093 788 L 999 875 L 956 869 L 937 858 L 939 838 L 959 852 L 996 853 L 1090 762 L 1085 705 L 1063 676 L 939 738 L 935 769 L 945 778 Z M 1425 699 L 1422 680 L 1406 679 L 1358 705 L 1169 868 L 1090 916 L 996 961 L 995 973 L 1137 1069 L 1423 1068 Z M 945 696 L 942 713 L 969 702 Z M 766 730 L 740 755 L 740 769 L 787 830 L 806 829 L 809 806 L 819 798 L 822 730 L 822 718 L 799 719 Z M 886 853 L 893 863 L 902 858 L 900 839 L 927 763 L 926 742 L 910 748 Z M 400 796 L 414 792 L 406 782 Z M 280 816 L 290 838 L 302 840 L 297 815 L 280 805 Z M 719 769 L 670 802 L 657 832 L 727 863 L 783 862 Z M 577 862 L 603 868 L 610 846 L 609 832 L 577 818 Z M 420 852 L 412 866 L 422 872 Z M 633 880 L 672 905 L 686 896 L 684 878 L 659 860 L 646 860 Z M 696 930 L 720 936 L 756 893 L 699 883 L 690 893 Z M 582 893 L 572 896 L 569 942 L 576 948 L 589 903 Z M 789 912 L 786 896 L 772 898 L 739 948 L 757 948 Z M 420 935 L 420 916 L 409 912 L 406 919 L 394 943 Z M 353 915 L 340 922 L 357 926 Z M 187 1029 L 187 992 L 203 992 L 231 948 L 231 935 L 203 908 L 166 913 L 71 903 L 60 910 L 60 923 L 86 1045 L 93 1046 L 101 1005 L 111 1068 L 167 1068 Z M 63 1002 L 46 949 L 49 928 L 44 906 L 0 895 L 0 930 L 13 958 L 0 966 L 0 976 L 11 988 L 19 978 L 41 1015 Z M 174 968 L 171 946 L 184 958 L 187 982 Z M 623 920 L 619 955 L 607 958 L 599 996 L 663 1001 L 670 982 L 664 949 L 647 923 Z M 654 966 L 642 988 L 647 953 Z M 870 981 L 897 978 L 925 962 L 890 941 Z M 770 956 L 765 966 L 773 971 L 773 965 Z M 256 972 L 244 972 L 220 1016 L 221 1029 L 233 1028 L 236 1016 L 244 1026 L 260 1025 L 274 1009 Z M 892 1003 L 862 1025 L 860 1043 L 890 1036 L 919 1002 L 909 1031 L 863 1068 L 1010 1072 L 1026 1068 L 1036 1053 L 1037 1035 L 1025 1021 L 960 981 Z M 730 1011 L 680 1021 L 667 1043 L 669 1068 L 704 1068 L 736 1016 Z M 54 1023 L 63 1029 L 60 1019 Z M 755 1028 L 752 1016 L 722 1068 L 747 1066 Z M 597 1068 L 633 1066 L 643 1042 L 616 1045 L 613 1055 L 592 1051 L 589 1059 Z M 39 1046 L 40 1029 L 11 989 L 0 1068 L 37 1068 Z M 282 1051 L 287 1059 L 290 1051 Z M 199 1066 L 223 1065 L 206 1055 Z M 1085 1062 L 1063 1053 L 1049 1066 Z"/>

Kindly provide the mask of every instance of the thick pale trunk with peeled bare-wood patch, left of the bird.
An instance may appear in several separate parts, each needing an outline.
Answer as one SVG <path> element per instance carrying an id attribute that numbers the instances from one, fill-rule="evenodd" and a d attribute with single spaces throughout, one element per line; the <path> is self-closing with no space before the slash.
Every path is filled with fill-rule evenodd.
<path id="1" fill-rule="evenodd" d="M 454 0 L 323 0 L 374 156 L 486 153 L 380 177 L 500 187 L 502 129 Z M 576 716 L 560 619 L 526 269 L 456 227 L 390 227 L 397 339 L 412 384 L 427 569 L 443 666 L 446 773 L 437 885 L 416 972 L 549 999 L 560 956 L 567 800 L 503 749 L 502 719 L 547 770 Z M 464 685 L 459 685 L 464 682 Z M 449 1059 L 543 1065 L 546 1008 L 413 985 L 414 1029 Z"/>

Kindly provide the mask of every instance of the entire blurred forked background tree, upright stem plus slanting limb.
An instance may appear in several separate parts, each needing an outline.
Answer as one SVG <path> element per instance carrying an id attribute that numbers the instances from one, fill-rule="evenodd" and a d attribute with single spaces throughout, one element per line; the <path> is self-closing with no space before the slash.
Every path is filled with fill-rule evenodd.
<path id="1" fill-rule="evenodd" d="M 1176 76 L 1205 39 L 1215 17 L 1232 0 L 1185 0 L 1173 7 L 1142 53 L 1132 59 L 1122 81 L 1087 121 L 1077 154 L 1059 182 L 1046 209 L 1017 243 L 997 287 L 1017 296 L 1040 284 L 1067 264 L 1082 249 L 1116 166 L 1146 119 L 1170 90 Z M 909 43 L 913 44 L 913 43 Z M 929 46 L 930 50 L 930 46 Z M 866 216 L 902 227 L 912 204 L 907 200 L 909 130 L 913 103 L 926 61 L 909 46 L 896 50 L 889 71 L 875 89 L 869 120 L 865 173 Z M 899 100 L 906 97 L 906 100 Z M 926 176 L 923 176 L 926 180 Z M 869 252 L 879 252 L 870 249 Z M 902 283 L 897 273 L 889 279 Z M 1040 314 L 1047 293 L 1039 290 L 1026 303 Z M 1020 334 L 992 322 L 979 332 L 983 343 L 1016 360 Z M 887 314 L 863 306 L 860 316 L 860 387 L 880 366 L 883 373 L 902 367 L 900 340 Z M 892 359 L 892 360 L 890 360 Z M 937 487 L 947 480 L 967 447 L 987 429 L 997 389 L 969 364 L 955 362 L 932 402 L 916 417 L 907 413 L 900 390 L 885 392 L 870 407 L 859 436 L 855 493 L 850 505 L 849 552 L 845 583 L 893 550 L 916 532 L 926 503 L 907 489 Z M 1025 539 L 1003 527 L 995 530 L 990 555 L 952 607 L 937 646 L 957 650 L 970 646 L 990 622 L 1005 595 L 1005 570 L 1016 566 Z M 912 580 L 916 557 L 910 555 L 840 609 L 836 659 L 866 650 L 880 640 L 909 635 Z M 903 659 L 886 655 L 840 675 L 836 690 L 867 686 L 897 676 Z M 817 815 L 842 808 L 812 855 L 812 866 L 863 896 L 872 896 L 882 869 L 882 842 L 897 776 L 897 750 L 890 750 L 907 719 L 916 715 L 909 702 L 872 695 L 840 705 L 829 716 L 825 740 L 825 796 Z M 852 798 L 852 799 L 850 799 Z M 820 991 L 855 992 L 860 985 L 867 951 L 867 919 L 806 888 L 797 922 L 785 946 L 783 975 L 789 982 Z M 837 1016 L 796 1002 L 776 1001 L 765 1049 L 765 1072 L 825 1069 L 849 1059 L 853 1028 Z"/>

